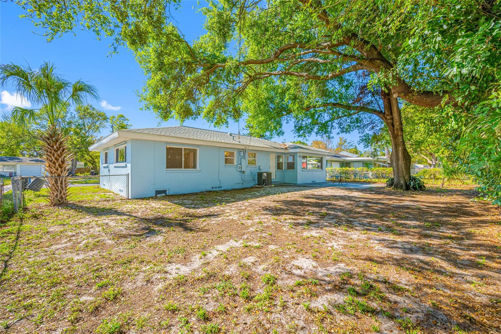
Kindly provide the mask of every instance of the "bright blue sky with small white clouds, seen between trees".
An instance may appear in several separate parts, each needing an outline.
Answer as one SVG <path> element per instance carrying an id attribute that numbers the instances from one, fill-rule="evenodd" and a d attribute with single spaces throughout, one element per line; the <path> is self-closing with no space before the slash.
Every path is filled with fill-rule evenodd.
<path id="1" fill-rule="evenodd" d="M 203 15 L 196 13 L 196 1 L 182 1 L 178 12 L 173 11 L 180 30 L 188 40 L 203 35 Z M 193 8 L 195 7 L 195 8 Z M 136 95 L 145 80 L 132 52 L 121 48 L 119 53 L 108 56 L 108 45 L 111 41 L 98 41 L 96 36 L 85 31 L 77 31 L 76 36 L 66 34 L 63 37 L 47 43 L 45 37 L 36 30 L 27 19 L 20 19 L 21 8 L 12 3 L 0 3 L 0 63 L 30 64 L 36 68 L 44 61 L 50 61 L 58 67 L 58 72 L 70 81 L 83 79 L 99 90 L 100 99 L 90 101 L 95 107 L 108 115 L 124 114 L 130 119 L 133 127 L 155 127 L 160 119 L 147 110 L 140 110 L 142 104 Z M 4 87 L 2 90 L 2 112 L 9 110 L 9 103 L 16 100 L 15 89 Z M 103 100 L 106 102 L 103 102 Z M 115 109 L 115 110 L 114 110 Z M 175 119 L 162 121 L 160 126 L 179 125 Z M 238 126 L 231 123 L 229 128 L 214 128 L 203 119 L 188 120 L 183 125 L 205 129 L 237 132 Z M 240 121 L 240 128 L 244 125 Z M 284 124 L 285 135 L 275 138 L 276 141 L 291 141 L 297 139 L 292 132 L 292 124 Z M 109 133 L 103 131 L 103 135 Z M 336 133 L 333 133 L 336 137 Z M 358 133 L 341 134 L 353 141 L 358 140 Z M 312 135 L 309 141 L 315 139 Z M 362 148 L 359 145 L 359 148 Z"/>

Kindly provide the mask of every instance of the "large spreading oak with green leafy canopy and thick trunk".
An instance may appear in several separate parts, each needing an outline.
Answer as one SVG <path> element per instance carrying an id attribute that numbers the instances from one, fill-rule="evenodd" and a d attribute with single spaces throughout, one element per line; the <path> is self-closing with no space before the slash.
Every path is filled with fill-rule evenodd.
<path id="1" fill-rule="evenodd" d="M 49 39 L 82 27 L 131 48 L 147 76 L 141 99 L 161 119 L 201 116 L 224 125 L 246 117 L 261 137 L 283 134 L 284 122 L 302 136 L 384 122 L 395 187 L 408 189 L 401 101 L 443 104 L 465 138 L 484 129 L 480 146 L 461 147 L 463 163 L 495 170 L 478 149 L 498 146 L 499 131 L 489 129 L 499 124 L 492 116 L 501 82 L 499 2 L 221 0 L 201 9 L 207 33 L 194 41 L 169 23 L 171 2 L 20 4 Z"/>

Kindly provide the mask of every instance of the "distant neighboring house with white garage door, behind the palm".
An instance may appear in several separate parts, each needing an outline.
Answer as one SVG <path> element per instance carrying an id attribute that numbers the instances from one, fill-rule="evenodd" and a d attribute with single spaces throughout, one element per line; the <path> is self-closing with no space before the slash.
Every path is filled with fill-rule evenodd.
<path id="1" fill-rule="evenodd" d="M 0 176 L 18 175 L 42 176 L 45 172 L 45 160 L 27 156 L 0 156 Z"/>

